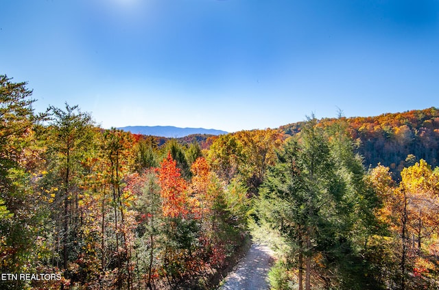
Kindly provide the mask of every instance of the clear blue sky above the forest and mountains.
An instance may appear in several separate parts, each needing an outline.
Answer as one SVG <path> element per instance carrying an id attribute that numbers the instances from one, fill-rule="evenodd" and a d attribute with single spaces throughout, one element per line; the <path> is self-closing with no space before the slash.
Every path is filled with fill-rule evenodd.
<path id="1" fill-rule="evenodd" d="M 104 128 L 439 107 L 439 1 L 1 0 L 0 74 Z"/>

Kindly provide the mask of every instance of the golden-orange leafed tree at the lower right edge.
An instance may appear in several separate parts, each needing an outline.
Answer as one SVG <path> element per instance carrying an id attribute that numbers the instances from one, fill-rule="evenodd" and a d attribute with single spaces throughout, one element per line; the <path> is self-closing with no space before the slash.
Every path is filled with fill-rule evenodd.
<path id="1" fill-rule="evenodd" d="M 390 282 L 400 289 L 428 287 L 436 267 L 429 245 L 437 239 L 439 174 L 421 159 L 401 172 L 401 182 L 392 181 L 389 168 L 377 166 L 370 181 L 383 206 L 377 211 L 381 226 L 386 226 L 381 243 L 385 245 L 382 272 L 390 272 Z"/>

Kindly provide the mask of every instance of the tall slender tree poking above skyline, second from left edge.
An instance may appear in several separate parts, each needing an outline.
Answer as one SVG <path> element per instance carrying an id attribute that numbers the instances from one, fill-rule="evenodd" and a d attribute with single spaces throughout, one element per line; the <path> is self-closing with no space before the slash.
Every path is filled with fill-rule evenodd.
<path id="1" fill-rule="evenodd" d="M 67 269 L 69 253 L 77 241 L 80 216 L 78 205 L 80 202 L 80 183 L 84 176 L 82 162 L 91 146 L 91 116 L 82 113 L 78 106 L 71 107 L 65 104 L 65 111 L 51 106 L 50 124 L 47 143 L 48 153 L 51 155 L 49 177 L 47 185 L 58 182 L 56 202 L 54 202 L 54 220 L 56 236 L 62 245 L 62 267 Z M 70 258 L 73 259 L 73 256 Z"/>

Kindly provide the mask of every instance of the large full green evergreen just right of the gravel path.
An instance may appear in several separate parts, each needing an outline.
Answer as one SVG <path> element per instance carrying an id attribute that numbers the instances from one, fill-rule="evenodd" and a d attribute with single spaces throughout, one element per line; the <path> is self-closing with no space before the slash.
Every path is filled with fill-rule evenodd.
<path id="1" fill-rule="evenodd" d="M 283 263 L 298 270 L 298 289 L 373 287 L 361 259 L 372 233 L 361 219 L 372 222 L 374 195 L 351 141 L 327 134 L 309 118 L 300 135 L 287 140 L 261 187 L 259 224 L 287 249 Z"/>

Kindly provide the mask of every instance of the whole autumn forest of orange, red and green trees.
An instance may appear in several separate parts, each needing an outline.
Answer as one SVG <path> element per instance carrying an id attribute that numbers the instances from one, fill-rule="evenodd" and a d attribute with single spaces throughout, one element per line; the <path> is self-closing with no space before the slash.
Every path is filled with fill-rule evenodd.
<path id="1" fill-rule="evenodd" d="M 272 289 L 439 288 L 436 108 L 176 140 L 34 102 L 0 75 L 1 289 L 215 289 L 250 239 Z"/>

